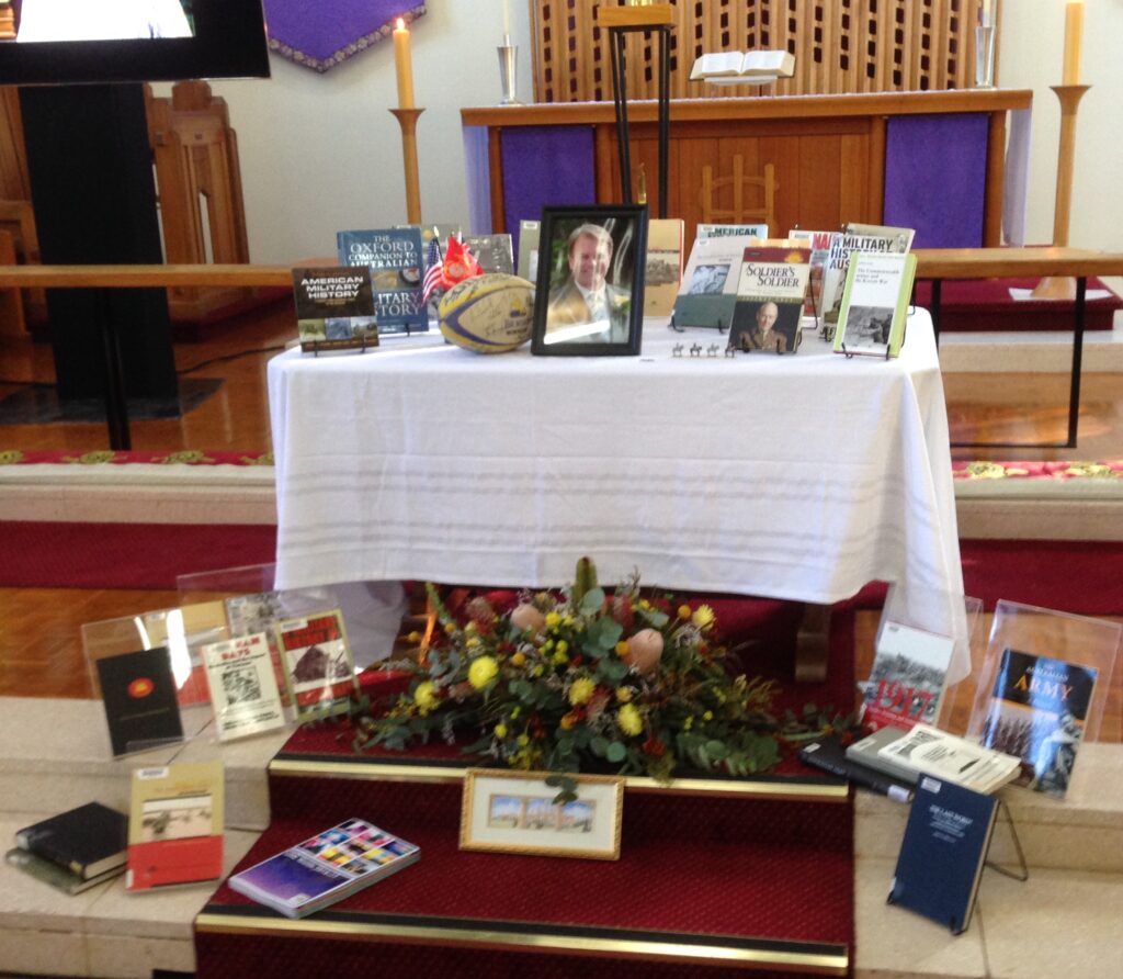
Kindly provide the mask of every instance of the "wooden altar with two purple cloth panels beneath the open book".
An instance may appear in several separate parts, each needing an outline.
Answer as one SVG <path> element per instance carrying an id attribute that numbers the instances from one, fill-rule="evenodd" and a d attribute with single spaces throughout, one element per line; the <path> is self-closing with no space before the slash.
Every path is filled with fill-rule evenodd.
<path id="1" fill-rule="evenodd" d="M 775 166 L 774 233 L 869 221 L 916 228 L 917 246 L 995 246 L 1007 114 L 1031 100 L 1029 90 L 674 100 L 667 214 L 692 241 L 703 167 L 722 176 L 740 156 L 747 175 Z M 633 102 L 629 117 L 633 165 L 656 187 L 656 103 Z M 545 205 L 621 199 L 611 102 L 462 109 L 460 119 L 476 233 L 517 233 Z"/>

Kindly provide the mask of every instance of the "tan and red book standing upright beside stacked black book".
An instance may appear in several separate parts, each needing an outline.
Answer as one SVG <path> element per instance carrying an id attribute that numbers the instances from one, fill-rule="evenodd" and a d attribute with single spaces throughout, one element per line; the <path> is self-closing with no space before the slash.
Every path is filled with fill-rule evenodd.
<path id="1" fill-rule="evenodd" d="M 222 876 L 222 763 L 133 772 L 125 886 L 152 890 Z"/>

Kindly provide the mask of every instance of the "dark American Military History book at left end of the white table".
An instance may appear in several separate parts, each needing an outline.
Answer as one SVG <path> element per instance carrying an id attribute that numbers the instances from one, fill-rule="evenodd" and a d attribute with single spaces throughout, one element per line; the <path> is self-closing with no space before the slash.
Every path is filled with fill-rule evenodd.
<path id="1" fill-rule="evenodd" d="M 300 348 L 313 353 L 378 345 L 371 270 L 362 265 L 292 270 Z"/>

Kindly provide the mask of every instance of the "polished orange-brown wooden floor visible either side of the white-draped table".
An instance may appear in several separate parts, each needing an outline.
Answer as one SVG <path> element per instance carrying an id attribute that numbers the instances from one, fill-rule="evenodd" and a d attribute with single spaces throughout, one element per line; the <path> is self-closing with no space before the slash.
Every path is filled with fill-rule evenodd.
<path id="1" fill-rule="evenodd" d="M 223 324 L 202 338 L 177 343 L 183 377 L 217 378 L 222 386 L 182 418 L 135 421 L 137 450 L 245 451 L 270 448 L 266 364 L 295 334 L 290 302 L 274 302 Z M 51 348 L 0 334 L 0 399 L 31 382 L 52 383 Z M 944 377 L 952 442 L 1062 442 L 1067 430 L 1068 378 L 1062 374 L 948 374 Z M 0 426 L 0 453 L 8 450 L 108 447 L 102 423 Z M 1123 381 L 1087 374 L 1076 450 L 955 450 L 962 459 L 1123 459 Z M 89 697 L 90 678 L 81 626 L 179 604 L 176 592 L 75 589 L 0 589 L 0 695 Z M 859 676 L 868 670 L 876 617 L 858 622 Z M 1121 671 L 1123 672 L 1123 671 Z M 1123 681 L 1123 677 L 1116 678 Z M 1116 685 L 1116 689 L 1117 689 Z M 1120 698 L 1115 698 L 1117 705 Z M 1117 729 L 1119 707 L 1112 727 Z"/>

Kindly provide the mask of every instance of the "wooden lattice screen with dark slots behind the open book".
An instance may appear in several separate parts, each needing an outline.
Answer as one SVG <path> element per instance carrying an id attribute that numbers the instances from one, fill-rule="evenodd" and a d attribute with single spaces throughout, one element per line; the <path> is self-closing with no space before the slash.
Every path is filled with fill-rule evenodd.
<path id="1" fill-rule="evenodd" d="M 590 0 L 529 0 L 535 100 L 611 101 L 608 31 Z M 611 0 L 604 0 L 610 3 Z M 962 89 L 983 0 L 672 0 L 670 97 L 734 98 Z M 996 12 L 1001 3 L 993 4 Z M 655 36 L 628 36 L 628 96 L 658 94 Z M 795 74 L 764 89 L 690 81 L 704 52 L 784 49 Z"/>

